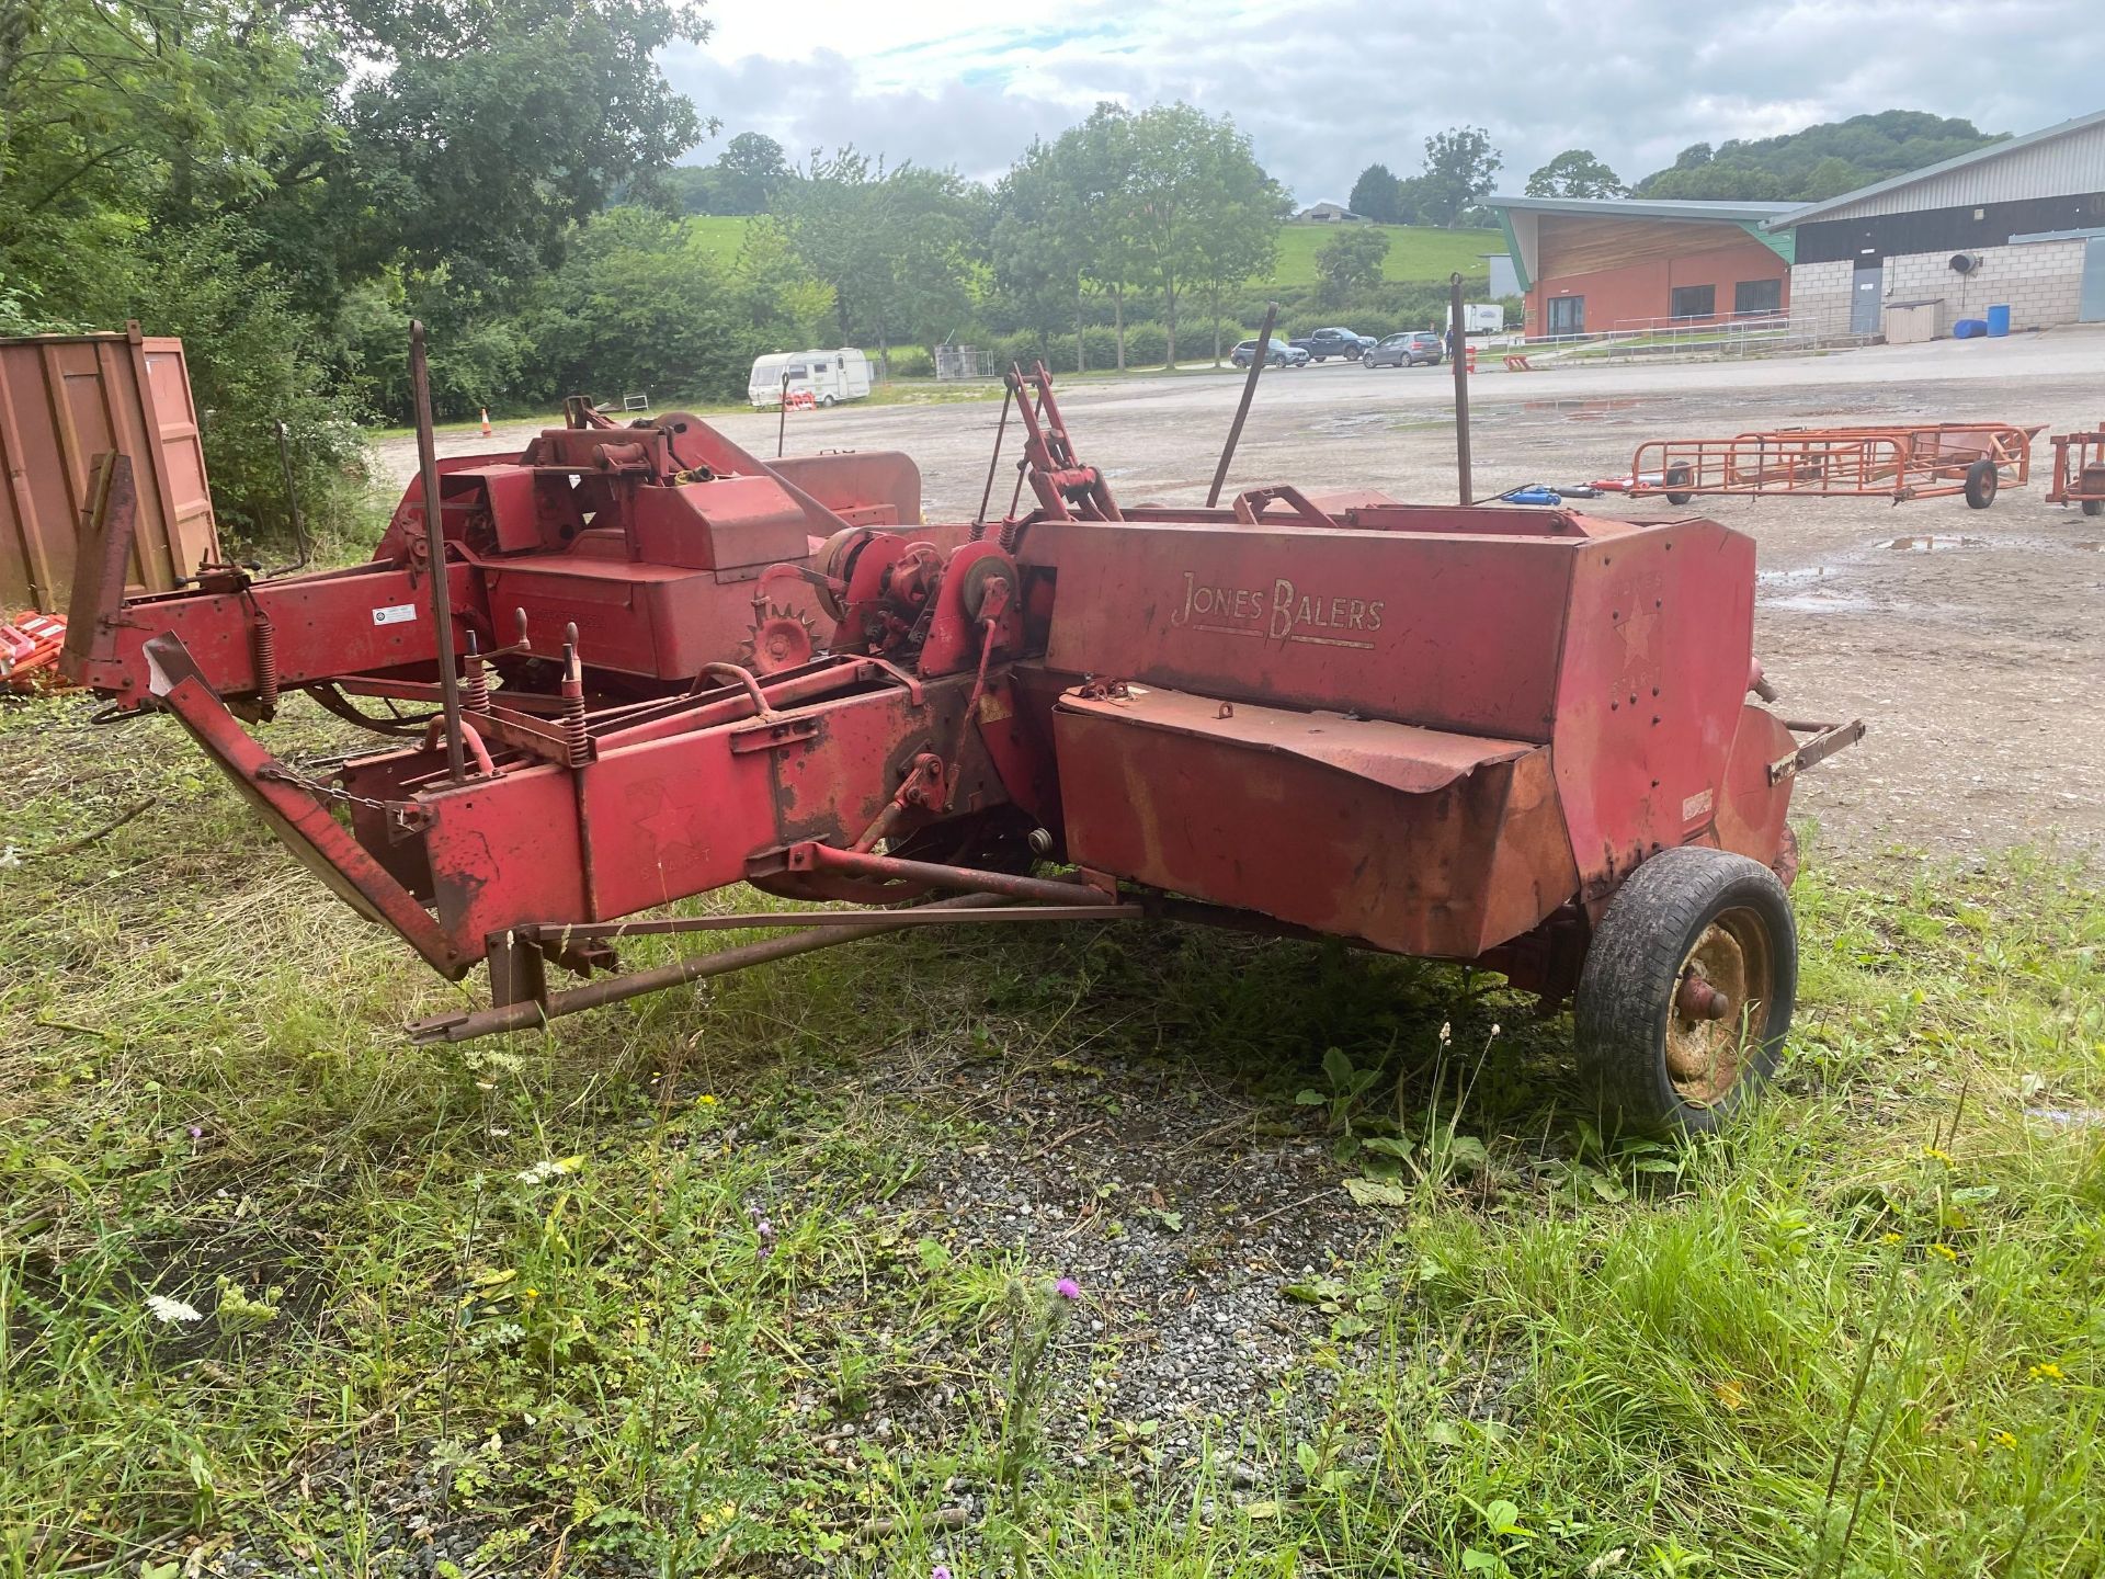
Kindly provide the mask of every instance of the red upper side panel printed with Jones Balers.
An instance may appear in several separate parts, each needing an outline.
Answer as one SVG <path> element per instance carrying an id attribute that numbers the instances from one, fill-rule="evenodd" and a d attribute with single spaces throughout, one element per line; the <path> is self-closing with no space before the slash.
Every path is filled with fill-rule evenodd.
<path id="1" fill-rule="evenodd" d="M 1046 663 L 1547 741 L 1585 539 L 1040 522 Z"/>

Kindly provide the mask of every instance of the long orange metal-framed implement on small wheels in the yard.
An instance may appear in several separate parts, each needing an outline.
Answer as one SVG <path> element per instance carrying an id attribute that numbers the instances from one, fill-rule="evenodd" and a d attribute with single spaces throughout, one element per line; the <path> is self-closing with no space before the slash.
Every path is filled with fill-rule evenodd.
<path id="1" fill-rule="evenodd" d="M 2031 440 L 2044 423 L 1901 423 L 1892 427 L 1783 427 L 1732 438 L 1659 438 L 1629 461 L 1631 497 L 1663 493 L 1684 505 L 1699 493 L 1789 493 L 1815 499 L 1939 499 L 1962 493 L 1974 509 L 2008 482 L 2031 480 Z"/>

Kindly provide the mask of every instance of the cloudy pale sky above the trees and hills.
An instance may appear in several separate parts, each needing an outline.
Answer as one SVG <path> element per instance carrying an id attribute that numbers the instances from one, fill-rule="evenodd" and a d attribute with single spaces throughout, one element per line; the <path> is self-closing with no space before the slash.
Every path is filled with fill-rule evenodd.
<path id="1" fill-rule="evenodd" d="M 798 162 L 853 141 L 994 177 L 1099 99 L 1231 114 L 1299 202 L 1444 126 L 1488 126 L 1501 189 L 1564 147 L 1625 181 L 1695 141 L 1871 109 L 2023 133 L 2105 109 L 2105 0 L 711 0 L 663 57 L 724 122 Z"/>

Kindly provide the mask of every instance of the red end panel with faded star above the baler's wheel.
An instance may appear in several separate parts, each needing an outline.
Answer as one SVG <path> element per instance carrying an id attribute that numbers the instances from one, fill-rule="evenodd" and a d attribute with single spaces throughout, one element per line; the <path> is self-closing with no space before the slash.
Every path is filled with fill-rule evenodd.
<path id="1" fill-rule="evenodd" d="M 1575 558 L 1556 684 L 1556 768 L 1598 899 L 1718 808 L 1753 651 L 1753 539 L 1690 520 Z"/>

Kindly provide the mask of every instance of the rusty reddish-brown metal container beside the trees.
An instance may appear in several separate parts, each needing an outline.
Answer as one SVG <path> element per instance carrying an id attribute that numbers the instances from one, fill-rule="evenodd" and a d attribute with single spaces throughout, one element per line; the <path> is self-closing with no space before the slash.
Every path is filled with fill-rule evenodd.
<path id="1" fill-rule="evenodd" d="M 173 592 L 219 558 L 183 341 L 137 322 L 122 335 L 0 339 L 0 611 L 65 611 L 105 451 L 131 455 L 139 480 L 133 592 Z"/>

